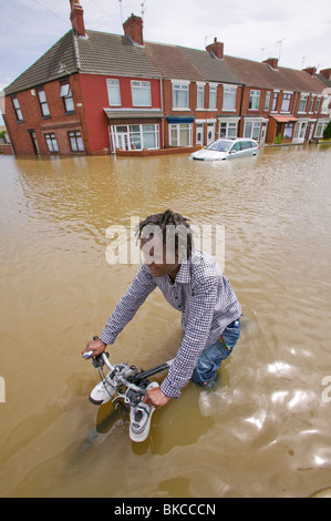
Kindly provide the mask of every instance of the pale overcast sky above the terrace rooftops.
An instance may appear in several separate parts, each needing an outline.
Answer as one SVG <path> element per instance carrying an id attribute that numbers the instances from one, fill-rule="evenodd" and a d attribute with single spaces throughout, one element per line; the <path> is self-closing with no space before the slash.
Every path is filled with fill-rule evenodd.
<path id="1" fill-rule="evenodd" d="M 225 53 L 279 58 L 293 69 L 331 67 L 330 0 L 81 0 L 86 29 L 123 34 L 142 16 L 144 39 L 205 49 L 217 37 Z M 142 6 L 143 4 L 143 6 Z M 71 29 L 69 0 L 0 0 L 0 90 Z M 0 118 L 1 124 L 1 118 Z"/>

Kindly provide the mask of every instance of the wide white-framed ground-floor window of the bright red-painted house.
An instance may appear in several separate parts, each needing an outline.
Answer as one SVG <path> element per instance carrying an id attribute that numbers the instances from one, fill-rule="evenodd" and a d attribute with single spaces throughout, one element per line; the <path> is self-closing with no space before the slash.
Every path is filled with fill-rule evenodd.
<path id="1" fill-rule="evenodd" d="M 113 125 L 111 126 L 113 149 L 153 150 L 159 149 L 159 125 Z"/>

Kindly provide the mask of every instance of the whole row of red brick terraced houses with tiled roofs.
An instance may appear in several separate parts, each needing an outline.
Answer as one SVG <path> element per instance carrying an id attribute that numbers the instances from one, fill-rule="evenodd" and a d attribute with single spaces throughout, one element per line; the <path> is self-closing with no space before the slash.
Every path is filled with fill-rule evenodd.
<path id="1" fill-rule="evenodd" d="M 188 152 L 221 135 L 302 143 L 329 121 L 311 70 L 227 57 L 217 39 L 205 51 L 145 42 L 134 14 L 124 35 L 86 30 L 79 0 L 70 8 L 72 30 L 4 89 L 15 154 Z"/>

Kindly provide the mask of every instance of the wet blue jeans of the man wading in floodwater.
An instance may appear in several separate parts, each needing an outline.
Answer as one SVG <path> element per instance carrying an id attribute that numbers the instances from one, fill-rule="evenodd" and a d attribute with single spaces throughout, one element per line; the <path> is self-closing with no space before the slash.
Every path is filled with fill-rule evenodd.
<path id="1" fill-rule="evenodd" d="M 237 324 L 236 324 L 237 323 Z M 192 381 L 197 386 L 205 386 L 207 381 L 216 377 L 223 360 L 232 353 L 240 336 L 240 318 L 229 324 L 221 334 L 226 344 L 218 338 L 211 346 L 207 347 L 199 356 L 198 362 L 193 371 Z"/>

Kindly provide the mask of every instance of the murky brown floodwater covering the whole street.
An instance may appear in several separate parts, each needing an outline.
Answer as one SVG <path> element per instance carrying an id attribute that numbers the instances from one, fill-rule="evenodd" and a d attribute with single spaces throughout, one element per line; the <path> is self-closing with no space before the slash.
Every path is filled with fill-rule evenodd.
<path id="1" fill-rule="evenodd" d="M 330 145 L 219 164 L 0 157 L 0 496 L 330 496 Z M 124 413 L 90 403 L 81 350 L 137 269 L 106 260 L 106 229 L 167 207 L 224 226 L 242 333 L 220 384 L 189 384 L 134 443 Z M 108 350 L 148 368 L 180 338 L 154 292 Z"/>

